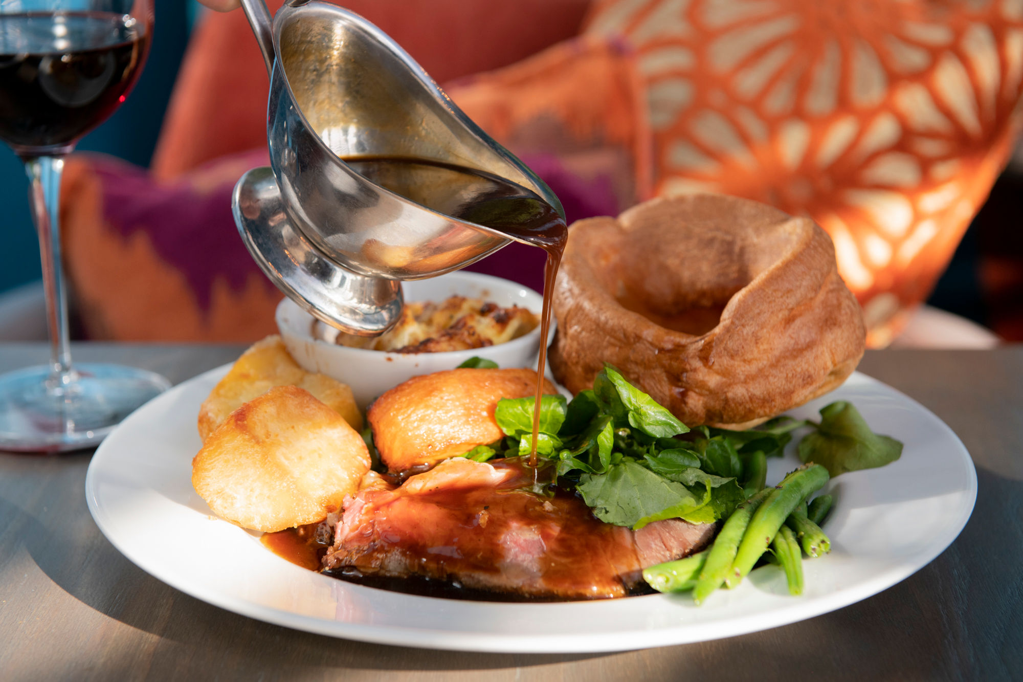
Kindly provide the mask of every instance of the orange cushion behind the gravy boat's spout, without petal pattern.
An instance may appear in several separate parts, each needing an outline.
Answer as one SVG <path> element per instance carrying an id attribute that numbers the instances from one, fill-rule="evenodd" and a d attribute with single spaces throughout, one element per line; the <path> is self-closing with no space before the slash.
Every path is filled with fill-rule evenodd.
<path id="1" fill-rule="evenodd" d="M 597 37 L 559 43 L 498 71 L 453 83 L 465 114 L 546 177 L 555 157 L 576 177 L 607 176 L 617 214 L 651 196 L 651 138 L 633 55 Z M 571 198 L 570 198 L 571 199 Z M 569 219 L 601 213 L 585 212 Z"/>

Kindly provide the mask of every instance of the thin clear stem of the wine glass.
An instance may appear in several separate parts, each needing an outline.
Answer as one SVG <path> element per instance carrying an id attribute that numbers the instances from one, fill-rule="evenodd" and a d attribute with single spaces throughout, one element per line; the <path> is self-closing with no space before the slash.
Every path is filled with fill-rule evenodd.
<path id="1" fill-rule="evenodd" d="M 46 324 L 50 331 L 49 389 L 62 392 L 75 380 L 68 335 L 68 292 L 60 260 L 60 174 L 63 157 L 25 160 L 32 194 L 32 208 L 39 230 L 39 254 L 46 293 Z"/>

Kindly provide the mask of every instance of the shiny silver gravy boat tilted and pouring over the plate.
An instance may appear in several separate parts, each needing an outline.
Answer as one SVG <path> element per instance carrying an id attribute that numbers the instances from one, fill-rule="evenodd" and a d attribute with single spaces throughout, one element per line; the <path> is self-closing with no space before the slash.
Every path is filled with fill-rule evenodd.
<path id="1" fill-rule="evenodd" d="M 415 199 L 442 196 L 443 173 L 417 174 L 413 165 L 396 194 L 358 172 L 372 166 L 360 158 L 482 171 L 539 196 L 564 218 L 547 185 L 369 22 L 316 0 L 287 0 L 272 20 L 263 0 L 241 4 L 270 72 L 272 172 L 241 177 L 234 218 L 267 276 L 314 316 L 380 335 L 401 313 L 401 280 L 456 270 L 514 239 L 443 212 L 471 187 L 428 208 Z"/>

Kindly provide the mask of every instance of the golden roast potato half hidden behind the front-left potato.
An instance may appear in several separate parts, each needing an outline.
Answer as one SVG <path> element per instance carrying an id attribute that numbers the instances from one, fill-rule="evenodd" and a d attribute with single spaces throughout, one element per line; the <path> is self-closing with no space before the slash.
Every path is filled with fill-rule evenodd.
<path id="1" fill-rule="evenodd" d="M 228 415 L 274 386 L 300 386 L 336 410 L 355 430 L 362 430 L 352 389 L 330 377 L 306 372 L 292 359 L 279 336 L 268 336 L 243 352 L 210 391 L 198 411 L 199 436 L 205 441 Z"/>

